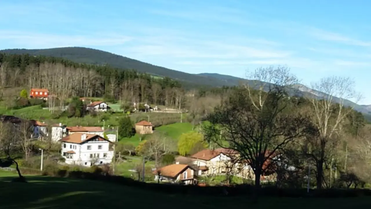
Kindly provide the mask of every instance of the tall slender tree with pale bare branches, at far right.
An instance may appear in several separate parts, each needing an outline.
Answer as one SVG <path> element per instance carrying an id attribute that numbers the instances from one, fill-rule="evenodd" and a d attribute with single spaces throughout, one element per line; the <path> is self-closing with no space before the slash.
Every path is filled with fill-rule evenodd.
<path id="1" fill-rule="evenodd" d="M 306 155 L 315 163 L 317 189 L 322 188 L 324 164 L 334 157 L 334 151 L 341 142 L 341 131 L 352 107 L 344 107 L 345 100 L 359 100 L 354 91 L 354 81 L 350 78 L 328 77 L 312 84 L 316 96 L 310 94 L 311 118 L 317 133 L 308 136 Z M 357 102 L 356 101 L 356 102 Z"/>

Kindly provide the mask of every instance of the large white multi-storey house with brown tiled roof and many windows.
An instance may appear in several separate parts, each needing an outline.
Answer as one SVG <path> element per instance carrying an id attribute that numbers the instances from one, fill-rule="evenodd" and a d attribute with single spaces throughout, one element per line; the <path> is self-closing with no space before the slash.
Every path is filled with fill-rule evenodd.
<path id="1" fill-rule="evenodd" d="M 114 144 L 102 136 L 73 133 L 60 141 L 67 164 L 91 166 L 112 162 Z"/>

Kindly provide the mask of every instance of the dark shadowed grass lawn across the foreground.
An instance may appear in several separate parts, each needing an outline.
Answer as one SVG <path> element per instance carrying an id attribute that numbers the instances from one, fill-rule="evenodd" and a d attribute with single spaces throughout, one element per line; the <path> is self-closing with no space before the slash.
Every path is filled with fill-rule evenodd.
<path id="1" fill-rule="evenodd" d="M 169 195 L 100 181 L 27 176 L 28 183 L 0 177 L 0 208 L 285 208 L 351 209 L 371 205 L 370 197 L 344 199 L 263 198 L 252 205 L 247 197 Z"/>

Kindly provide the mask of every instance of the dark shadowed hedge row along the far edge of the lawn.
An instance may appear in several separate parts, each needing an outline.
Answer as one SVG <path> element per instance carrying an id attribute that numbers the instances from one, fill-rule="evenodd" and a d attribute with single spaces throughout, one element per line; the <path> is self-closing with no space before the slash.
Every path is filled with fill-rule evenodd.
<path id="1" fill-rule="evenodd" d="M 156 192 L 163 192 L 169 194 L 185 194 L 197 196 L 252 196 L 256 190 L 252 185 L 237 185 L 237 186 L 191 186 L 191 185 L 178 185 L 178 184 L 157 184 L 157 183 L 144 183 L 136 181 L 131 178 L 122 176 L 112 176 L 109 171 L 105 171 L 100 167 L 89 169 L 90 172 L 80 170 L 66 170 L 66 169 L 49 169 L 42 173 L 35 169 L 22 168 L 24 174 L 42 174 L 44 176 L 53 177 L 68 177 L 73 179 L 88 179 L 111 182 L 114 184 L 121 184 L 125 186 L 140 187 L 146 190 L 153 190 Z M 322 189 L 310 190 L 307 193 L 306 189 L 281 189 L 277 187 L 263 187 L 259 191 L 261 196 L 270 197 L 322 197 L 322 198 L 335 198 L 335 197 L 357 197 L 357 196 L 371 196 L 369 189 Z"/>

